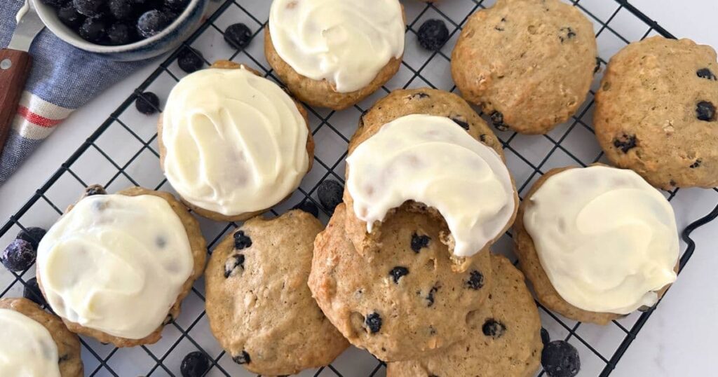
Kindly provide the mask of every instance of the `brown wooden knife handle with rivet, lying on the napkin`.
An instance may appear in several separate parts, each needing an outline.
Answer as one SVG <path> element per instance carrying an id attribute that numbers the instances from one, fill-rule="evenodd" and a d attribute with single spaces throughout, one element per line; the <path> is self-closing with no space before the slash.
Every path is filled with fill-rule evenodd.
<path id="1" fill-rule="evenodd" d="M 27 52 L 0 50 L 0 152 L 7 141 L 31 67 L 32 57 Z"/>

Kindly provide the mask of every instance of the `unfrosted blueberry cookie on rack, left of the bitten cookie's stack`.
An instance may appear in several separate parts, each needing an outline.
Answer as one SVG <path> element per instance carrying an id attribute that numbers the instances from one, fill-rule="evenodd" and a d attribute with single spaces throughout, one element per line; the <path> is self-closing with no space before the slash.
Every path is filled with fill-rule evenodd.
<path id="1" fill-rule="evenodd" d="M 284 376 L 326 366 L 349 345 L 307 287 L 322 228 L 301 210 L 253 218 L 212 253 L 205 273 L 210 328 L 253 373 Z"/>

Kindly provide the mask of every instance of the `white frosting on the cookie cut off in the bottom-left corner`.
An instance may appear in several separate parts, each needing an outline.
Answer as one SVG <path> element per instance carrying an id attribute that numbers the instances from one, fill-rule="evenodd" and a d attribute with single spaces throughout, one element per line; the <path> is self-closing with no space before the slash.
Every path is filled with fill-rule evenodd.
<path id="1" fill-rule="evenodd" d="M 0 309 L 0 376 L 60 377 L 57 344 L 45 326 L 27 315 Z"/>

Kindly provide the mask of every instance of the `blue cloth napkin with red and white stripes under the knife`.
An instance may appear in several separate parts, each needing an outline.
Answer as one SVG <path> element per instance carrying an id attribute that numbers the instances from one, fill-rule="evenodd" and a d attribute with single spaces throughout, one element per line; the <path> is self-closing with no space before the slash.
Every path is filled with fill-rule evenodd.
<path id="1" fill-rule="evenodd" d="M 0 0 L 0 47 L 7 47 L 24 0 Z M 32 71 L 0 155 L 0 185 L 75 109 L 146 62 L 113 62 L 42 30 L 30 48 Z"/>

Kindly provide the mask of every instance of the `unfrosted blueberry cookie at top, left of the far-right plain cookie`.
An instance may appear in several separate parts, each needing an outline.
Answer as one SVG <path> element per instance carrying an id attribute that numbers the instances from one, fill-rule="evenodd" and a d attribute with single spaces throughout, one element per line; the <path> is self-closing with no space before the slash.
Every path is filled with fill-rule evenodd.
<path id="1" fill-rule="evenodd" d="M 559 0 L 498 0 L 468 19 L 452 76 L 501 131 L 546 134 L 584 102 L 597 62 L 591 22 Z"/>

